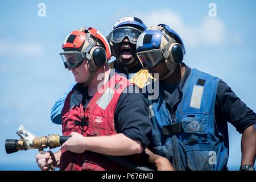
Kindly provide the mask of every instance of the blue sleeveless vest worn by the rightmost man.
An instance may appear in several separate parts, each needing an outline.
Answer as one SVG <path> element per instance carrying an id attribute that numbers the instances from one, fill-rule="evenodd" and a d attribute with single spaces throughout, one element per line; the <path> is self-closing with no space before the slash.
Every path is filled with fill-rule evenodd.
<path id="1" fill-rule="evenodd" d="M 219 78 L 191 69 L 182 88 L 173 122 L 159 85 L 159 97 L 148 100 L 155 154 L 170 160 L 176 170 L 222 170 L 228 148 L 218 131 L 214 102 Z"/>

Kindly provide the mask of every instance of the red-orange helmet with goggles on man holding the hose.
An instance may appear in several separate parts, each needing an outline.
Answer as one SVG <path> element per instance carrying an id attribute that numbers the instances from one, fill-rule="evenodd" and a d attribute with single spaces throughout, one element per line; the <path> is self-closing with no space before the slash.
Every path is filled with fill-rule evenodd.
<path id="1" fill-rule="evenodd" d="M 96 28 L 82 27 L 70 32 L 64 39 L 60 56 L 65 68 L 75 68 L 86 59 L 91 71 L 102 67 L 111 57 L 108 40 Z"/>

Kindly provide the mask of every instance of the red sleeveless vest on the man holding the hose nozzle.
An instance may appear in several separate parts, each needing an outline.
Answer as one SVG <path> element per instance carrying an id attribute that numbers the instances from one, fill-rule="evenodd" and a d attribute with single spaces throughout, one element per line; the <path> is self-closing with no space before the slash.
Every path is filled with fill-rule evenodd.
<path id="1" fill-rule="evenodd" d="M 90 100 L 84 109 L 82 94 L 72 90 L 66 100 L 62 111 L 62 132 L 70 136 L 72 132 L 82 134 L 84 137 L 113 135 L 117 132 L 114 127 L 115 107 L 123 90 L 133 85 L 125 77 L 117 73 L 110 78 L 104 86 Z M 125 170 L 118 164 L 110 162 L 99 154 L 85 151 L 75 154 L 61 150 L 60 170 Z"/>

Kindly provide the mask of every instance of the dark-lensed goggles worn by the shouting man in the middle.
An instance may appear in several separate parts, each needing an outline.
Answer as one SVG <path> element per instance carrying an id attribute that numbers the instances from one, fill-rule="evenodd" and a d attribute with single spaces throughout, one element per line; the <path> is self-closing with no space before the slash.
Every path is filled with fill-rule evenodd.
<path id="1" fill-rule="evenodd" d="M 119 27 L 110 32 L 109 41 L 113 43 L 120 43 L 127 36 L 130 43 L 136 44 L 141 33 L 142 31 L 134 27 Z"/>

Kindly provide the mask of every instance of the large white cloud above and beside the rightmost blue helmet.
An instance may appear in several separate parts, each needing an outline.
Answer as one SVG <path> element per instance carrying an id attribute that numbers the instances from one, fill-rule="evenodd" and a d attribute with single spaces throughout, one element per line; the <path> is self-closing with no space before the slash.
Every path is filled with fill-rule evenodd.
<path id="1" fill-rule="evenodd" d="M 236 33 L 228 33 L 225 24 L 219 18 L 205 16 L 200 24 L 187 26 L 180 14 L 172 10 L 154 10 L 150 13 L 136 13 L 149 26 L 164 23 L 176 30 L 183 39 L 185 46 L 219 46 L 232 41 L 241 43 L 242 38 Z"/>

